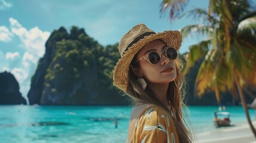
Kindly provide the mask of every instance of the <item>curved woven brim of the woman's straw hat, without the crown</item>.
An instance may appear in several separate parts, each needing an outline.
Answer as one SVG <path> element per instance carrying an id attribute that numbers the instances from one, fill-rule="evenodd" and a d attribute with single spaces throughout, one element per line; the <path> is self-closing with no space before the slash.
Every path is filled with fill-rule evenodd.
<path id="1" fill-rule="evenodd" d="M 166 30 L 164 32 L 145 36 L 143 39 L 140 39 L 140 41 L 129 47 L 124 55 L 118 60 L 118 63 L 116 63 L 116 66 L 113 70 L 113 85 L 117 86 L 125 93 L 127 92 L 129 66 L 132 59 L 134 58 L 134 55 L 137 54 L 137 52 L 140 51 L 144 45 L 155 41 L 156 39 L 162 39 L 167 46 L 171 46 L 177 51 L 180 49 L 182 42 L 182 36 L 178 30 Z"/>

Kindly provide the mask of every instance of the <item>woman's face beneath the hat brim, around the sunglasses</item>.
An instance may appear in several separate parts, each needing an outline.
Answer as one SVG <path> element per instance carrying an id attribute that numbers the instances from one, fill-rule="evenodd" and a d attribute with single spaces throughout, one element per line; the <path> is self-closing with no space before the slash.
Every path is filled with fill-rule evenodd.
<path id="1" fill-rule="evenodd" d="M 160 40 L 155 40 L 148 43 L 144 48 L 138 52 L 137 59 L 141 57 L 148 58 L 150 52 L 155 51 L 158 54 L 161 52 L 161 58 L 158 64 L 151 64 L 145 58 L 141 58 L 137 62 L 140 62 L 139 71 L 142 74 L 141 76 L 146 77 L 150 83 L 169 83 L 176 78 L 176 68 L 175 61 L 169 60 L 164 56 L 165 49 L 168 46 Z"/>

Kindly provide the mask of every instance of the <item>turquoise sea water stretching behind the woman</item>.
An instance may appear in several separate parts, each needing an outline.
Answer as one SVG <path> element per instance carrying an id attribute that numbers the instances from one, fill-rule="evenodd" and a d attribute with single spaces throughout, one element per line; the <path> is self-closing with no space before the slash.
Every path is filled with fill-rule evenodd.
<path id="1" fill-rule="evenodd" d="M 215 129 L 214 110 L 218 107 L 189 107 L 193 132 Z M 242 107 L 226 111 L 234 125 L 247 123 Z M 122 106 L 1 105 L 0 142 L 125 142 L 130 112 Z M 249 113 L 255 120 L 254 110 Z"/>

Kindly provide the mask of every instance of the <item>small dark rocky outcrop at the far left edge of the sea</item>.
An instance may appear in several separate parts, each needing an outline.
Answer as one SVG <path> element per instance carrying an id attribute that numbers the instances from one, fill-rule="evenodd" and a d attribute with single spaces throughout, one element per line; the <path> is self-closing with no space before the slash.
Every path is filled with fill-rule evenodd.
<path id="1" fill-rule="evenodd" d="M 27 104 L 19 90 L 13 74 L 7 71 L 0 73 L 0 104 Z"/>

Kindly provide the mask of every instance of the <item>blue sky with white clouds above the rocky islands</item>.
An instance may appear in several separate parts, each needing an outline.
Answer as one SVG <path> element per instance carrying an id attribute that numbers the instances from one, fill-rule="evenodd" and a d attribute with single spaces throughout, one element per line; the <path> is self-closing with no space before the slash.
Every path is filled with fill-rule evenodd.
<path id="1" fill-rule="evenodd" d="M 119 42 L 122 35 L 137 23 L 155 32 L 178 30 L 198 21 L 182 18 L 170 23 L 168 13 L 160 17 L 159 0 L 0 0 L 0 72 L 10 71 L 26 97 L 30 78 L 39 58 L 44 56 L 45 42 L 51 32 L 64 26 L 84 28 L 101 45 Z M 190 1 L 186 11 L 206 8 L 208 1 Z M 195 37 L 183 39 L 181 53 L 197 43 Z"/>

